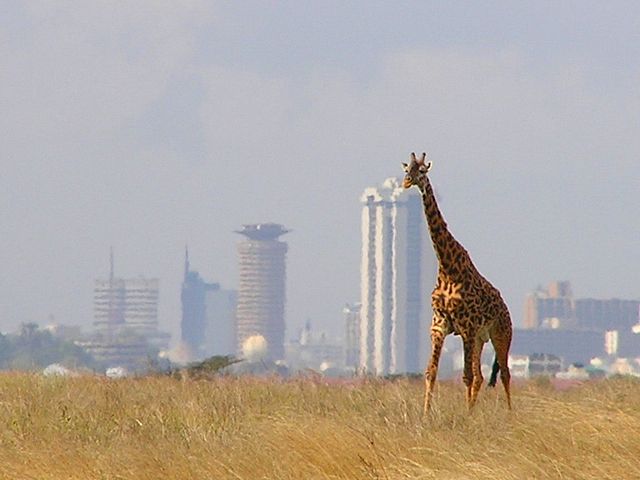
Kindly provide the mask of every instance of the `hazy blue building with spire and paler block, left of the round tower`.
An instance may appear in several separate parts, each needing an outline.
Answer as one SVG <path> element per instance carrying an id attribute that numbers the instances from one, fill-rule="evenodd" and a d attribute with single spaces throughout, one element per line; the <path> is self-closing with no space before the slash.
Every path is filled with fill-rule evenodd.
<path id="1" fill-rule="evenodd" d="M 181 339 L 191 360 L 235 354 L 235 292 L 205 282 L 185 252 Z"/>

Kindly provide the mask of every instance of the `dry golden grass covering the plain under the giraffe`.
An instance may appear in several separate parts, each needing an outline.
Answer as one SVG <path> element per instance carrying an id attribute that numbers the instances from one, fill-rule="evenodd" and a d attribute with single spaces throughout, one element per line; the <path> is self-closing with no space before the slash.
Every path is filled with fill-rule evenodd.
<path id="1" fill-rule="evenodd" d="M 640 382 L 483 390 L 406 380 L 0 375 L 0 478 L 640 478 Z"/>

